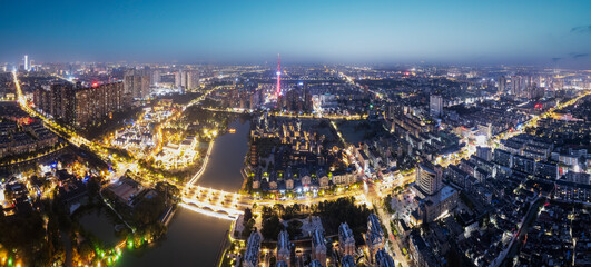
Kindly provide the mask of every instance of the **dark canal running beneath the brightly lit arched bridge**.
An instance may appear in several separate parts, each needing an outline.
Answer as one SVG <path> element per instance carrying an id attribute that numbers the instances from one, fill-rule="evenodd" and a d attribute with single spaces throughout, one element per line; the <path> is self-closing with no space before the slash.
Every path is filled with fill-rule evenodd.
<path id="1" fill-rule="evenodd" d="M 211 158 L 197 185 L 238 191 L 243 178 L 240 169 L 248 149 L 248 120 L 237 119 L 229 128 L 236 134 L 216 138 Z M 220 244 L 230 221 L 178 208 L 168 233 L 154 247 L 127 251 L 117 266 L 215 266 Z"/>

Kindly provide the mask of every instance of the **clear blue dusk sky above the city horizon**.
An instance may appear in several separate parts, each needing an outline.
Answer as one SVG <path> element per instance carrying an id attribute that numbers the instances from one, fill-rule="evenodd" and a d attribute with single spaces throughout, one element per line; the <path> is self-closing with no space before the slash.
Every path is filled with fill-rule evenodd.
<path id="1" fill-rule="evenodd" d="M 591 68 L 590 14 L 588 0 L 3 1 L 0 61 Z"/>

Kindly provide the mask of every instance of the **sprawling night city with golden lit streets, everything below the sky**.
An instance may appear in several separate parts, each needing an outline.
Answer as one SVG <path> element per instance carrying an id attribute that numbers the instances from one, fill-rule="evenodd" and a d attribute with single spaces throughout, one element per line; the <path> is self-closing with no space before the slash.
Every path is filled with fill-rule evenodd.
<path id="1" fill-rule="evenodd" d="M 588 70 L 276 60 L 2 66 L 2 263 L 589 263 Z"/>

